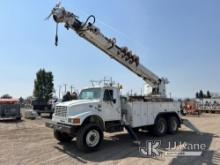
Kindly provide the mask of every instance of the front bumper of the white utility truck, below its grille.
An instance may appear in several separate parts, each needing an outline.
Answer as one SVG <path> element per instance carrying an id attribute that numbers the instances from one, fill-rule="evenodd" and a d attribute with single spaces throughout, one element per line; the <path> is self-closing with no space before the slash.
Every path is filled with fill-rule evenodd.
<path id="1" fill-rule="evenodd" d="M 64 124 L 56 123 L 53 121 L 46 122 L 45 126 L 48 128 L 52 128 L 54 130 L 63 132 L 63 133 L 67 133 L 67 134 L 75 134 L 77 131 L 77 127 L 64 125 Z"/>

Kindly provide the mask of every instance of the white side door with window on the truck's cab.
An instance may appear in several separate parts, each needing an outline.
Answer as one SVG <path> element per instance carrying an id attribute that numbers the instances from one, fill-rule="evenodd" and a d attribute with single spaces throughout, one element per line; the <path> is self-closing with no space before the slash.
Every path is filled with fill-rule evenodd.
<path id="1" fill-rule="evenodd" d="M 102 116 L 105 121 L 115 121 L 121 119 L 120 100 L 118 93 L 113 89 L 104 89 Z"/>

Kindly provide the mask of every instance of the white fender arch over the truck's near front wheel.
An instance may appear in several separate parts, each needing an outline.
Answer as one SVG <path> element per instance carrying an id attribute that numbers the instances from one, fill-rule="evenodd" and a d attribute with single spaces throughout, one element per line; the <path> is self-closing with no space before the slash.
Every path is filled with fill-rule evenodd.
<path id="1" fill-rule="evenodd" d="M 71 119 L 75 119 L 75 118 L 79 118 L 80 119 L 80 123 L 71 123 L 73 125 L 77 125 L 77 126 L 80 126 L 83 124 L 83 122 L 85 121 L 85 119 L 87 119 L 88 117 L 90 116 L 98 116 L 100 118 L 102 118 L 98 113 L 95 113 L 93 111 L 86 111 L 86 112 L 83 112 L 83 113 L 79 113 L 77 115 L 74 115 L 74 116 L 70 116 L 69 117 L 69 120 Z"/>

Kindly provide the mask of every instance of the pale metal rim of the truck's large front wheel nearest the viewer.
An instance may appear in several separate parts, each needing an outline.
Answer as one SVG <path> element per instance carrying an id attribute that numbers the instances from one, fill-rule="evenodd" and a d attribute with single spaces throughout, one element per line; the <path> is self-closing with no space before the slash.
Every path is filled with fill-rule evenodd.
<path id="1" fill-rule="evenodd" d="M 86 144 L 89 147 L 95 147 L 100 141 L 100 134 L 97 130 L 91 130 L 86 136 Z"/>

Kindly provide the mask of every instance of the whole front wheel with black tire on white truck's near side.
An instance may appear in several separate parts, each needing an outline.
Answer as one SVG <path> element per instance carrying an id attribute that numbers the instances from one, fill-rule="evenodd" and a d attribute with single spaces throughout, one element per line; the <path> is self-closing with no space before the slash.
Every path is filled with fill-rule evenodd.
<path id="1" fill-rule="evenodd" d="M 89 123 L 77 132 L 76 145 L 79 150 L 92 152 L 99 149 L 103 141 L 103 131 L 97 124 Z"/>

